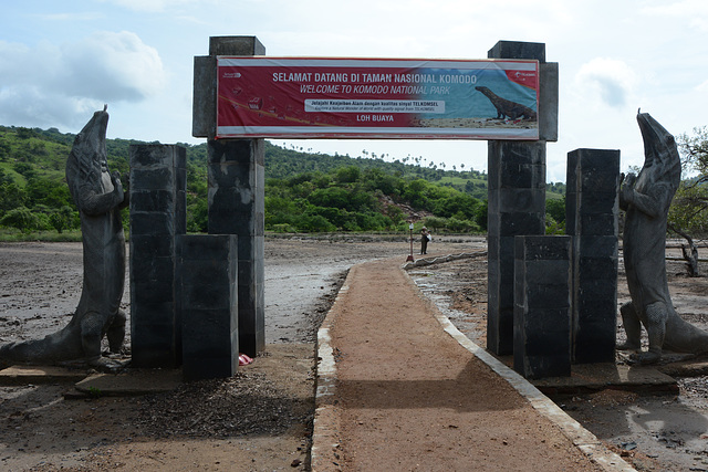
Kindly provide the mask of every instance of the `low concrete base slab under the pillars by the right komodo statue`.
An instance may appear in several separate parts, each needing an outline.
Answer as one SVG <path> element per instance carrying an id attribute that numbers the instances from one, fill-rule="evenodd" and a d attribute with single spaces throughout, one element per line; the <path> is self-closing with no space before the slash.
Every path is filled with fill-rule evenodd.
<path id="1" fill-rule="evenodd" d="M 648 366 L 579 364 L 573 365 L 570 377 L 549 377 L 532 384 L 548 396 L 580 395 L 605 388 L 647 395 L 678 394 L 673 377 Z"/>

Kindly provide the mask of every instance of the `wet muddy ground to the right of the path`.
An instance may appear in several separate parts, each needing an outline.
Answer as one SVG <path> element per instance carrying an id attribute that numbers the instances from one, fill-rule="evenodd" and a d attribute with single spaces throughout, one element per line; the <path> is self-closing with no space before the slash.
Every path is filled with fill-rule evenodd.
<path id="1" fill-rule="evenodd" d="M 667 254 L 677 258 L 680 251 L 670 249 Z M 686 276 L 678 261 L 669 261 L 667 272 L 677 312 L 708 329 L 708 277 Z M 708 263 L 700 264 L 700 272 L 708 275 Z M 486 345 L 486 258 L 436 264 L 409 273 L 458 329 L 478 345 Z M 621 261 L 618 303 L 628 300 Z M 617 337 L 624 339 L 621 318 Z M 646 349 L 646 336 L 643 344 Z M 618 355 L 617 361 L 625 359 Z M 678 385 L 680 394 L 676 397 L 607 389 L 554 400 L 637 470 L 708 471 L 708 377 L 678 378 Z"/>

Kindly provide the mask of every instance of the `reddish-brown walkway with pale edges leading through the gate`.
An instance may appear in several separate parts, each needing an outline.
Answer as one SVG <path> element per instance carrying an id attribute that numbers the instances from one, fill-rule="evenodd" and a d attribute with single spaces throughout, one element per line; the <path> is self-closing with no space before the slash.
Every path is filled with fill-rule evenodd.
<path id="1" fill-rule="evenodd" d="M 634 470 L 458 332 L 402 262 L 353 266 L 320 329 L 313 471 Z"/>

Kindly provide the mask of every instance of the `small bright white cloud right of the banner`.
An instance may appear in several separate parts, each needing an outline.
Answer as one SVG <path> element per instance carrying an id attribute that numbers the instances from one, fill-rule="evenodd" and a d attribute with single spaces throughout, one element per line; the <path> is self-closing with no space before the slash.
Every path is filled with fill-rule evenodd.
<path id="1" fill-rule="evenodd" d="M 598 96 L 612 107 L 624 107 L 634 92 L 636 74 L 625 62 L 596 57 L 583 64 L 575 76 L 582 95 Z"/>

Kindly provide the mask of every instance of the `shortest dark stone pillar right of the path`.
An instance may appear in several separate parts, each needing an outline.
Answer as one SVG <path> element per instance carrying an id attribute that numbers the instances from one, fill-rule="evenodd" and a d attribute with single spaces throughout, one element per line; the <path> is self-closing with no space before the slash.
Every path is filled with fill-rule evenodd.
<path id="1" fill-rule="evenodd" d="M 571 375 L 571 245 L 565 235 L 516 237 L 513 368 Z"/>

